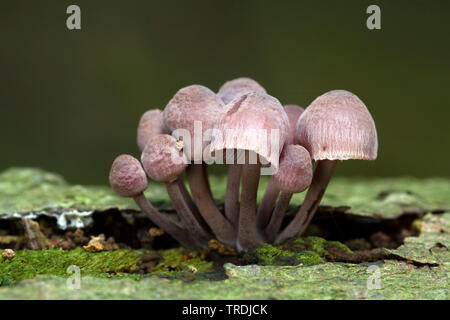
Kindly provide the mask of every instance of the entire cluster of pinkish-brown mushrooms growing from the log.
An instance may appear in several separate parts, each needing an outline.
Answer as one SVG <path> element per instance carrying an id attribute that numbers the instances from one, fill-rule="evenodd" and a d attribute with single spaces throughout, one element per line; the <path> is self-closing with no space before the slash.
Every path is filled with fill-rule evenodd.
<path id="1" fill-rule="evenodd" d="M 283 107 L 250 78 L 228 81 L 217 94 L 201 85 L 180 89 L 164 111 L 144 113 L 137 142 L 140 161 L 120 155 L 112 165 L 115 192 L 133 198 L 155 225 L 187 248 L 204 248 L 217 239 L 240 252 L 301 235 L 337 160 L 374 160 L 378 149 L 375 123 L 356 95 L 333 90 L 305 110 Z M 209 185 L 213 163 L 228 170 L 223 212 Z M 271 177 L 258 207 L 262 174 Z M 147 177 L 165 184 L 179 221 L 145 197 Z M 307 189 L 298 212 L 281 229 L 292 195 Z"/>

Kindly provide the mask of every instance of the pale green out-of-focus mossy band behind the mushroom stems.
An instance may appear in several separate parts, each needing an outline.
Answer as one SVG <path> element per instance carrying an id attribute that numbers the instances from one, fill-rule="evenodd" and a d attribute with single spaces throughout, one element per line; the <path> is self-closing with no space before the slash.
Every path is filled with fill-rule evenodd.
<path id="1" fill-rule="evenodd" d="M 226 176 L 210 176 L 218 203 L 225 198 Z M 259 200 L 269 182 L 260 181 Z M 321 201 L 328 211 L 354 215 L 395 218 L 405 212 L 448 211 L 450 179 L 333 178 Z M 151 183 L 146 195 L 158 209 L 173 210 L 162 184 Z M 291 207 L 303 201 L 305 192 L 295 194 Z M 68 184 L 60 175 L 34 168 L 10 168 L 0 173 L 0 215 L 28 212 L 61 213 L 67 209 L 105 211 L 112 208 L 138 210 L 131 199 L 114 194 L 109 186 Z M 320 209 L 319 209 L 320 210 Z"/>

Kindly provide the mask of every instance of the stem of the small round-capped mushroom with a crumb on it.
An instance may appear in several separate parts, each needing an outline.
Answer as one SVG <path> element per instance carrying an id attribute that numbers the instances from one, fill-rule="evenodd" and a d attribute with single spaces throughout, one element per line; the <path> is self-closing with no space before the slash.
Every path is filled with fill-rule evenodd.
<path id="1" fill-rule="evenodd" d="M 181 221 L 183 221 L 186 229 L 200 246 L 206 246 L 208 241 L 211 240 L 212 237 L 202 227 L 202 225 L 195 218 L 193 212 L 189 208 L 189 205 L 183 195 L 182 189 L 180 188 L 179 179 L 173 182 L 166 183 L 166 189 L 170 199 L 172 200 L 173 206 L 180 216 Z"/>

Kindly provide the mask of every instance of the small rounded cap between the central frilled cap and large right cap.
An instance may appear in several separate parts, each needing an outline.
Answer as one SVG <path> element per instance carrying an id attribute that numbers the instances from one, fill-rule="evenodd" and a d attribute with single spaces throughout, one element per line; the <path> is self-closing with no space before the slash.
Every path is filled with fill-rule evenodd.
<path id="1" fill-rule="evenodd" d="M 285 145 L 280 155 L 278 171 L 272 176 L 278 189 L 284 192 L 298 193 L 311 184 L 312 161 L 304 147 Z"/>

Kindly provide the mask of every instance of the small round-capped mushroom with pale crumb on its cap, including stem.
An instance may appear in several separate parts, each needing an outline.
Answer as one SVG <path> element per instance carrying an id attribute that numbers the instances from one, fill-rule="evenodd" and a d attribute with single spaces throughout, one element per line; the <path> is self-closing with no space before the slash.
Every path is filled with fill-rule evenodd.
<path id="1" fill-rule="evenodd" d="M 201 217 L 195 216 L 195 211 L 189 207 L 180 187 L 182 182 L 179 178 L 187 167 L 187 159 L 182 149 L 182 141 L 177 141 L 168 134 L 159 134 L 148 140 L 142 152 L 141 162 L 152 180 L 166 185 L 169 197 L 184 226 L 198 245 L 204 247 L 212 237 Z"/>

